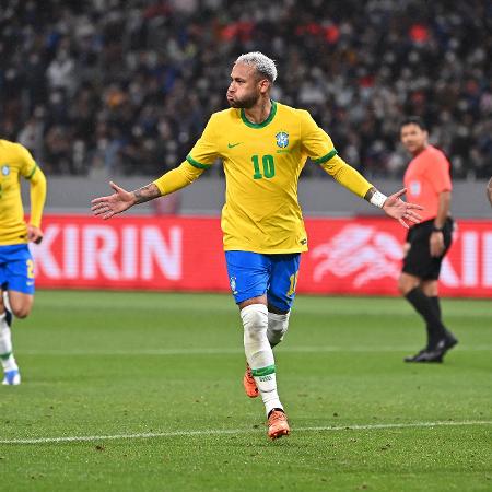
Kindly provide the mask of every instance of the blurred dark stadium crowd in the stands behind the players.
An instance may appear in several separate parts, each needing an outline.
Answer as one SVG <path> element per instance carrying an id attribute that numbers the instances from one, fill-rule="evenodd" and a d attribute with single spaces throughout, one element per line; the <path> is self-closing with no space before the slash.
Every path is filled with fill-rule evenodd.
<path id="1" fill-rule="evenodd" d="M 48 175 L 174 167 L 226 107 L 231 63 L 250 50 L 278 62 L 273 97 L 308 109 L 366 176 L 401 176 L 408 114 L 455 178 L 492 175 L 485 0 L 1 3 L 0 136 Z"/>

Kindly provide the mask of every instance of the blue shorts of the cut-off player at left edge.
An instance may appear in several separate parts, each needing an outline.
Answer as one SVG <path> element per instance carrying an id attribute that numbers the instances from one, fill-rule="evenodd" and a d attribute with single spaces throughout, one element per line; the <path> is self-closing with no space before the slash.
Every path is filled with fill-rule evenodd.
<path id="1" fill-rule="evenodd" d="M 0 246 L 2 290 L 34 294 L 34 261 L 26 244 Z"/>

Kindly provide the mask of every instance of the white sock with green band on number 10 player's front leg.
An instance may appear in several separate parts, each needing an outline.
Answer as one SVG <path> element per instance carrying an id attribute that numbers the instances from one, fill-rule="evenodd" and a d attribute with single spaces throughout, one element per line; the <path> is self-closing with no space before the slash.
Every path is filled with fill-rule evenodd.
<path id="1" fill-rule="evenodd" d="M 263 304 L 250 304 L 241 309 L 241 318 L 244 351 L 268 415 L 274 408 L 283 409 L 277 393 L 273 352 L 267 337 L 268 308 Z"/>

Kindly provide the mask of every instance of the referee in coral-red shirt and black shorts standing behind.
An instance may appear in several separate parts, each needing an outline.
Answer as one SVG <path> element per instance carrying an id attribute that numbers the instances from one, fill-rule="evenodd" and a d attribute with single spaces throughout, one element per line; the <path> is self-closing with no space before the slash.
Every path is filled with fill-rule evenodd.
<path id="1" fill-rule="evenodd" d="M 446 156 L 429 144 L 427 130 L 420 118 L 402 121 L 400 138 L 413 159 L 405 173 L 407 198 L 423 207 L 422 222 L 410 227 L 398 286 L 400 293 L 423 317 L 427 343 L 406 362 L 442 362 L 458 343 L 443 325 L 437 279 L 441 263 L 453 239 L 450 216 L 452 180 Z"/>

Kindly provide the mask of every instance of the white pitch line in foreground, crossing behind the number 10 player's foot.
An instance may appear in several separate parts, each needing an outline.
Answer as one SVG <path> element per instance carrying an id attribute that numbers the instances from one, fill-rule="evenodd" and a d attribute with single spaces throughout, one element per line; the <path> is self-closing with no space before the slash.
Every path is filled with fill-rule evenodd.
<path id="1" fill-rule="evenodd" d="M 295 432 L 339 432 L 339 431 L 378 431 L 385 429 L 432 429 L 432 427 L 460 427 L 466 425 L 492 425 L 492 421 L 469 420 L 458 422 L 414 422 L 414 423 L 387 423 L 366 425 L 338 425 L 338 426 L 314 426 L 294 427 Z M 50 444 L 50 443 L 82 443 L 92 441 L 116 441 L 116 440 L 148 440 L 156 437 L 190 437 L 195 435 L 236 435 L 258 432 L 256 429 L 216 429 L 203 431 L 168 431 L 168 432 L 143 432 L 137 434 L 113 434 L 113 435 L 80 435 L 61 437 L 35 437 L 19 440 L 0 440 L 0 444 Z"/>

